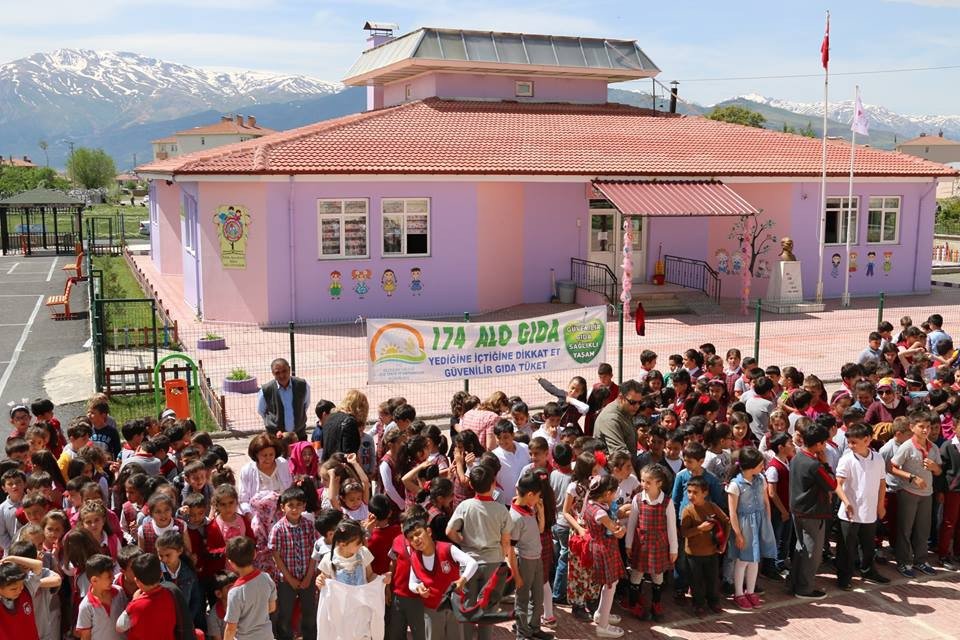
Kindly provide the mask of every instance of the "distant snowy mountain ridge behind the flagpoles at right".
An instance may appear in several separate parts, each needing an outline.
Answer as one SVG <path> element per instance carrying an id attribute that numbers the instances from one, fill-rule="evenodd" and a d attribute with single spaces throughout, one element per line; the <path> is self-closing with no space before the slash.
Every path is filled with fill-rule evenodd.
<path id="1" fill-rule="evenodd" d="M 812 118 L 823 117 L 823 104 L 820 103 L 792 102 L 789 100 L 768 98 L 757 94 L 747 94 L 738 97 L 775 109 L 792 111 L 799 115 L 810 116 Z M 960 139 L 960 115 L 904 115 L 890 111 L 881 105 L 866 103 L 863 105 L 863 108 L 867 112 L 867 120 L 870 122 L 871 129 L 876 128 L 892 131 L 904 138 L 919 136 L 921 133 L 937 135 L 942 130 L 943 134 L 948 138 Z M 849 124 L 850 121 L 853 120 L 853 100 L 831 102 L 827 117 L 837 122 Z"/>

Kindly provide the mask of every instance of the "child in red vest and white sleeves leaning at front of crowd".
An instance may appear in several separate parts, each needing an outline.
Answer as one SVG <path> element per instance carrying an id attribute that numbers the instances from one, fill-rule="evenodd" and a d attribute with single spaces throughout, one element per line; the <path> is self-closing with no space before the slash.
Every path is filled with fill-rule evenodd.
<path id="1" fill-rule="evenodd" d="M 409 546 L 411 592 L 420 596 L 430 621 L 433 640 L 459 640 L 460 624 L 450 607 L 440 607 L 451 585 L 463 589 L 477 571 L 477 561 L 449 542 L 434 542 L 426 520 L 410 518 L 403 523 Z"/>

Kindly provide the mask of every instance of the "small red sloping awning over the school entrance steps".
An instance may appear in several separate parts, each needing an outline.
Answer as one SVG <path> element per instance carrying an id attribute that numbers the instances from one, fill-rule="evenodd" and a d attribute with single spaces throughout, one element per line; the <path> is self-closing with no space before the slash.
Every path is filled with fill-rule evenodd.
<path id="1" fill-rule="evenodd" d="M 744 216 L 760 213 L 717 180 L 594 180 L 621 212 L 654 217 Z"/>

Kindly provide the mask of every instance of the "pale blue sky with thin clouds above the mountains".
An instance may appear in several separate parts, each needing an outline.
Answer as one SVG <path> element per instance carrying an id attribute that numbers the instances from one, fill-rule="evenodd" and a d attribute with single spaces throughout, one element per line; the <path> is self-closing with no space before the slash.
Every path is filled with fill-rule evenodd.
<path id="1" fill-rule="evenodd" d="M 364 20 L 636 39 L 670 80 L 816 74 L 824 11 L 832 12 L 831 71 L 960 64 L 960 0 L 607 2 L 602 0 L 45 0 L 4 2 L 0 61 L 59 46 L 134 51 L 213 68 L 340 80 L 364 47 Z M 864 101 L 902 113 L 960 113 L 960 68 L 837 76 Z M 649 83 L 640 85 L 649 87 Z M 713 103 L 744 93 L 822 97 L 822 79 L 683 82 Z"/>

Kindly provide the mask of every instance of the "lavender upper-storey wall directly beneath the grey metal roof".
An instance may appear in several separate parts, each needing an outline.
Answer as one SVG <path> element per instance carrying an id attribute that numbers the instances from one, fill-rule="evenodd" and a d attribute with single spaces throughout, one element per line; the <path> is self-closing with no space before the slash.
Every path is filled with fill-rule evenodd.
<path id="1" fill-rule="evenodd" d="M 533 97 L 519 98 L 516 82 L 533 82 Z M 410 96 L 406 88 L 410 87 Z M 400 80 L 383 87 L 383 104 L 392 106 L 407 100 L 439 98 L 479 98 L 481 100 L 519 100 L 521 102 L 577 102 L 603 104 L 607 101 L 607 83 L 585 78 L 554 78 L 533 75 L 496 75 L 477 73 L 431 72 Z"/>

